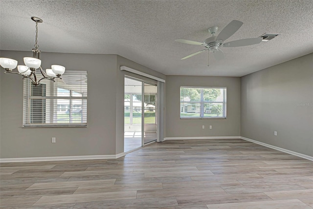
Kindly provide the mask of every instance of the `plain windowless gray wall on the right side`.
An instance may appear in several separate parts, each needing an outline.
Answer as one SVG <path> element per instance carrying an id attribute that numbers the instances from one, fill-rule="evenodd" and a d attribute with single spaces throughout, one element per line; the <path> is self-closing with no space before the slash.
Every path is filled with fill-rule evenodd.
<path id="1" fill-rule="evenodd" d="M 313 53 L 241 78 L 241 136 L 313 156 Z"/>

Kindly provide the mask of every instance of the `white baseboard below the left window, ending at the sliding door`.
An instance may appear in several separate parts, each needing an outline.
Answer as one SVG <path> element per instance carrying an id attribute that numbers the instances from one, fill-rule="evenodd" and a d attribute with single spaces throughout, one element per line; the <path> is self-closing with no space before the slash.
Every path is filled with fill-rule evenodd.
<path id="1" fill-rule="evenodd" d="M 65 161 L 65 160 L 103 160 L 123 157 L 124 152 L 116 155 L 85 155 L 85 156 L 58 156 L 58 157 L 25 157 L 25 158 L 0 158 L 0 163 L 40 162 L 40 161 Z"/>

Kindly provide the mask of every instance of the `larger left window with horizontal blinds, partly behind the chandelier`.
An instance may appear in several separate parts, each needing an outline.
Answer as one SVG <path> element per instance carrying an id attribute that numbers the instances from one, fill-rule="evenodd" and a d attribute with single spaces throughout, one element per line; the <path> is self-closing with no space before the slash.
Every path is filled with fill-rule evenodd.
<path id="1" fill-rule="evenodd" d="M 87 71 L 66 71 L 62 80 L 37 86 L 24 79 L 23 126 L 87 126 Z"/>

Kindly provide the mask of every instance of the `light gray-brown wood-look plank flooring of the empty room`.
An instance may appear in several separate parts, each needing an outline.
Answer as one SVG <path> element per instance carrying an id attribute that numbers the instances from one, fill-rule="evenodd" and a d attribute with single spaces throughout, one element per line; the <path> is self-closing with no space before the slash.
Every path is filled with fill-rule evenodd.
<path id="1" fill-rule="evenodd" d="M 1 209 L 312 209 L 313 162 L 241 139 L 110 160 L 1 163 Z"/>

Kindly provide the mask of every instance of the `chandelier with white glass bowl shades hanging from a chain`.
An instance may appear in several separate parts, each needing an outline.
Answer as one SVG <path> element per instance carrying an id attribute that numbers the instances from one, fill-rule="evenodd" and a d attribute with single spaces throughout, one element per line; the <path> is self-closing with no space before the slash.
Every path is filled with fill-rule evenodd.
<path id="1" fill-rule="evenodd" d="M 37 17 L 31 17 L 33 21 L 36 22 L 36 42 L 35 48 L 32 49 L 33 57 L 24 57 L 25 65 L 17 65 L 18 62 L 9 58 L 0 58 L 0 65 L 5 69 L 4 73 L 14 73 L 18 75 L 22 75 L 23 79 L 29 78 L 34 85 L 40 85 L 40 81 L 43 79 L 48 79 L 53 82 L 55 78 L 62 79 L 60 76 L 64 74 L 65 67 L 61 65 L 51 65 L 51 69 L 46 69 L 45 71 L 41 67 L 40 60 L 40 50 L 38 45 L 38 23 L 42 23 L 43 20 Z M 18 72 L 12 72 L 13 69 L 18 67 Z M 43 78 L 37 81 L 36 70 L 39 69 Z"/>

